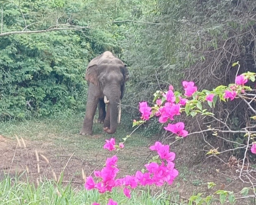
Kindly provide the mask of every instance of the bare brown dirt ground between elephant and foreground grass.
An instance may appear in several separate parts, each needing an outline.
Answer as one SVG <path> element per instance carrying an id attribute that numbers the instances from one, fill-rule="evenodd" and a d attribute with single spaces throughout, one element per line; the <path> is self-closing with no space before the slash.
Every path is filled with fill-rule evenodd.
<path id="1" fill-rule="evenodd" d="M 95 169 L 100 170 L 107 157 L 111 157 L 115 152 L 102 149 L 105 137 L 94 135 L 83 137 L 83 141 L 93 142 L 100 140 L 101 144 L 96 147 L 83 149 L 74 145 L 81 136 L 73 137 L 68 143 L 56 143 L 56 134 L 43 135 L 44 140 L 29 140 L 24 136 L 17 136 L 17 139 L 0 135 L 0 179 L 3 173 L 10 173 L 12 176 L 22 175 L 20 180 L 29 177 L 34 183 L 40 180 L 53 179 L 60 180 L 63 172 L 62 183 L 69 183 L 77 188 L 82 188 L 84 184 L 84 174 L 89 176 Z M 40 139 L 40 137 L 39 137 Z M 62 139 L 65 140 L 65 139 Z M 119 154 L 119 176 L 135 173 L 141 163 L 148 157 L 149 145 L 153 145 L 156 139 L 151 139 L 144 146 L 129 147 Z M 199 162 L 196 153 L 188 149 L 185 143 L 180 143 L 171 147 L 171 151 L 176 153 L 176 168 L 180 175 L 171 187 L 170 192 L 180 195 L 183 202 L 194 193 L 204 193 L 204 195 L 214 193 L 214 190 L 225 189 L 239 192 L 243 187 L 249 187 L 237 179 L 239 173 L 236 167 L 228 167 L 217 159 L 209 158 Z M 144 163 L 145 164 L 145 163 Z M 83 171 L 82 171 L 83 170 Z M 207 188 L 207 182 L 213 181 L 217 186 L 212 190 Z M 243 201 L 237 204 L 250 204 L 250 201 Z"/>

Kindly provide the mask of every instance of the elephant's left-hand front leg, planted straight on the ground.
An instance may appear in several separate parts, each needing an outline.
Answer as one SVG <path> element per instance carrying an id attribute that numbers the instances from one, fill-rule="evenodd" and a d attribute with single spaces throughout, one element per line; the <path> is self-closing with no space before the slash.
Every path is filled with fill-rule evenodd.
<path id="1" fill-rule="evenodd" d="M 97 110 L 98 100 L 99 99 L 97 99 L 93 96 L 90 96 L 90 94 L 88 95 L 83 127 L 79 134 L 92 135 L 93 118 L 94 118 L 95 112 Z"/>

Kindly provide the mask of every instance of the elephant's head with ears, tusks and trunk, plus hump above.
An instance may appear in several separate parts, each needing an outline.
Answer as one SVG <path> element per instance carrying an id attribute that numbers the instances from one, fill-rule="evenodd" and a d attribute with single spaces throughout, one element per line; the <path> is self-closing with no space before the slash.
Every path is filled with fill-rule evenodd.
<path id="1" fill-rule="evenodd" d="M 124 95 L 128 79 L 127 66 L 108 51 L 91 60 L 86 69 L 85 80 L 99 89 L 100 97 L 104 96 L 104 103 L 108 104 L 104 131 L 109 134 L 116 132 L 118 103 Z M 121 115 L 121 106 L 119 109 Z"/>

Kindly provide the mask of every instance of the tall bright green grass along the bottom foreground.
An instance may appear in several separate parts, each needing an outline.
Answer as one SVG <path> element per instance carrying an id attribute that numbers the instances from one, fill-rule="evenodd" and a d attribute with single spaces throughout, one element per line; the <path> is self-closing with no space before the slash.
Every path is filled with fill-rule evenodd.
<path id="1" fill-rule="evenodd" d="M 153 196 L 149 190 L 139 190 L 132 192 L 131 199 L 127 199 L 121 189 L 115 189 L 111 197 L 119 205 L 174 205 L 179 201 L 179 195 L 168 195 L 164 190 Z M 6 175 L 0 181 L 1 205 L 91 205 L 98 199 L 99 194 L 95 190 L 74 189 L 70 184 L 63 186 L 47 179 L 35 185 Z"/>

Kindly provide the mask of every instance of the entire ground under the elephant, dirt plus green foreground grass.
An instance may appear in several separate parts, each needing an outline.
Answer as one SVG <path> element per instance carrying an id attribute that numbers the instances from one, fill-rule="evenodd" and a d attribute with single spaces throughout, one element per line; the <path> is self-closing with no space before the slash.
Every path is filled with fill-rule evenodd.
<path id="1" fill-rule="evenodd" d="M 100 170 L 114 154 L 102 148 L 105 139 L 115 137 L 118 143 L 130 132 L 121 124 L 110 136 L 103 133 L 102 124 L 94 123 L 93 136 L 80 136 L 83 117 L 84 113 L 65 112 L 47 119 L 0 123 L 0 204 L 91 204 L 97 199 L 96 192 L 84 189 L 84 178 Z M 143 168 L 148 148 L 156 140 L 134 133 L 118 154 L 119 177 Z M 180 172 L 172 186 L 165 191 L 153 187 L 151 194 L 147 189 L 138 191 L 127 202 L 124 194 L 116 192 L 113 199 L 125 204 L 185 205 L 193 194 L 207 196 L 218 189 L 239 192 L 246 186 L 237 180 L 234 168 L 217 159 L 199 161 L 187 140 L 172 145 L 171 151 L 176 153 Z M 9 173 L 13 180 L 3 173 Z M 217 184 L 214 190 L 207 188 L 210 181 Z"/>

